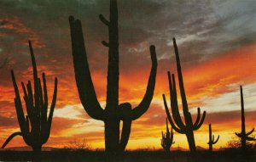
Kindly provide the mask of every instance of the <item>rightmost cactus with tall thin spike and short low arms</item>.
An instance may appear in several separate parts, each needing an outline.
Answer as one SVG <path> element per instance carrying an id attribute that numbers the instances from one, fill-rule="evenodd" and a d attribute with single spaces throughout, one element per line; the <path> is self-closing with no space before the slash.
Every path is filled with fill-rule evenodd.
<path id="1" fill-rule="evenodd" d="M 253 131 L 249 131 L 246 133 L 246 126 L 245 126 L 245 115 L 244 115 L 244 103 L 243 103 L 243 94 L 242 94 L 242 87 L 240 86 L 240 96 L 241 96 L 241 132 L 235 133 L 237 137 L 241 138 L 241 149 L 246 150 L 247 149 L 247 141 L 256 141 L 256 138 L 249 137 Z"/>

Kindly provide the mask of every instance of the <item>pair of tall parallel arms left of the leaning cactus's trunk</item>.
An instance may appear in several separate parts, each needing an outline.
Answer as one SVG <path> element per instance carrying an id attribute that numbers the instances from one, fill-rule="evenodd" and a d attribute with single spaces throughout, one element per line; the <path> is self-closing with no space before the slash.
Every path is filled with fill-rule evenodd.
<path id="1" fill-rule="evenodd" d="M 183 129 L 185 126 L 178 112 L 175 77 L 174 77 L 174 74 L 172 74 L 172 79 L 171 79 L 171 73 L 169 71 L 168 71 L 168 81 L 169 81 L 169 88 L 171 93 L 170 95 L 171 95 L 172 117 L 173 117 L 173 120 L 176 122 L 177 126 Z"/>

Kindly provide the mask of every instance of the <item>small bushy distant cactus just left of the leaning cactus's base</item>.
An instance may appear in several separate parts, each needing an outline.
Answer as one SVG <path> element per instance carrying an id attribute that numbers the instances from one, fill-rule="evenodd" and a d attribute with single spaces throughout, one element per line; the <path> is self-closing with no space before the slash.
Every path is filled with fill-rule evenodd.
<path id="1" fill-rule="evenodd" d="M 172 130 L 172 128 L 171 128 Z M 164 150 L 166 152 L 170 152 L 170 148 L 172 147 L 172 144 L 174 144 L 175 142 L 173 142 L 173 132 L 169 131 L 169 128 L 168 128 L 168 120 L 166 118 L 166 133 L 164 133 L 162 131 L 162 139 L 161 139 L 161 146 L 162 148 L 164 148 Z"/>

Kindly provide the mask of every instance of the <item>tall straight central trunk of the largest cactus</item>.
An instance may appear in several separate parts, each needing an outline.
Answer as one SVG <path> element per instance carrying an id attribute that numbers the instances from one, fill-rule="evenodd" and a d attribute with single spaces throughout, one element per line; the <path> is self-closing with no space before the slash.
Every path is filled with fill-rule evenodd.
<path id="1" fill-rule="evenodd" d="M 108 48 L 108 85 L 107 85 L 107 115 L 115 114 L 119 109 L 119 29 L 117 1 L 110 0 L 109 9 L 109 48 Z M 107 152 L 119 151 L 119 119 L 104 120 L 105 148 Z"/>

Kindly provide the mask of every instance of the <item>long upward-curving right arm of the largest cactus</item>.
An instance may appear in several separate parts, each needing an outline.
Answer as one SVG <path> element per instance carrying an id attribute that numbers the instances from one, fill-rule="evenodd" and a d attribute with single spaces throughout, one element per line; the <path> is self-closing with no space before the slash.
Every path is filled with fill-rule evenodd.
<path id="1" fill-rule="evenodd" d="M 152 67 L 151 67 L 151 72 L 148 78 L 147 90 L 143 97 L 142 102 L 139 103 L 139 105 L 135 109 L 132 109 L 131 111 L 132 120 L 137 120 L 141 115 L 143 115 L 148 110 L 148 107 L 154 95 L 155 76 L 157 71 L 157 59 L 156 59 L 154 46 L 150 46 L 150 55 L 151 55 Z"/>

